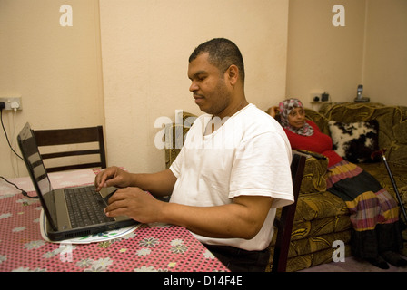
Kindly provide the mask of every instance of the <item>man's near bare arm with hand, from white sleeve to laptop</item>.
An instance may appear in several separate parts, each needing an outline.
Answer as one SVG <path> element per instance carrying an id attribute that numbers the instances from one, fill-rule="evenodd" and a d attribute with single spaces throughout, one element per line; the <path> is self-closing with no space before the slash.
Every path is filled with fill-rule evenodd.
<path id="1" fill-rule="evenodd" d="M 105 208 L 109 217 L 128 216 L 142 223 L 164 222 L 186 227 L 205 237 L 253 238 L 262 228 L 273 198 L 241 196 L 216 207 L 165 203 L 141 189 L 119 189 Z"/>

